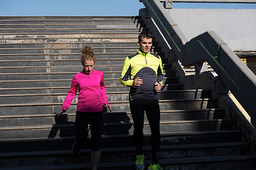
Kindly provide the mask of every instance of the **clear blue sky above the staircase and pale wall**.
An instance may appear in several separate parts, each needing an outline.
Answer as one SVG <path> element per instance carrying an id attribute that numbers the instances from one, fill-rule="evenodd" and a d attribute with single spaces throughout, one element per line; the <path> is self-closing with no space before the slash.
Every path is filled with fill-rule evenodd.
<path id="1" fill-rule="evenodd" d="M 174 8 L 254 8 L 256 4 L 174 3 Z M 137 16 L 139 0 L 0 0 L 0 16 Z"/>

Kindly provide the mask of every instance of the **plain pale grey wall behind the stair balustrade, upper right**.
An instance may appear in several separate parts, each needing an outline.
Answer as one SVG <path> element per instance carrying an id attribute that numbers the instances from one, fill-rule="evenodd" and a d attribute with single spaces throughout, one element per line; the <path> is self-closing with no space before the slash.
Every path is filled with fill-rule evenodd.
<path id="1" fill-rule="evenodd" d="M 256 9 L 166 9 L 188 40 L 213 30 L 231 50 L 256 50 Z"/>

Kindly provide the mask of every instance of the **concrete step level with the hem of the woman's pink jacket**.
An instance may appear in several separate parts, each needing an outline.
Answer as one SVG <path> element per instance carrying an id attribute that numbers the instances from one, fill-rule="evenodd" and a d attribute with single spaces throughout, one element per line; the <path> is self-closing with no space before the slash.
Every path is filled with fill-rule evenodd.
<path id="1" fill-rule="evenodd" d="M 124 111 L 129 112 L 129 101 L 110 101 L 109 102 L 112 111 Z M 11 103 L 11 104 L 0 104 L 1 114 L 6 115 L 7 113 L 15 115 L 16 111 L 20 114 L 49 114 L 58 113 L 60 111 L 61 103 Z M 76 102 L 73 102 L 68 111 L 76 111 Z M 198 99 L 176 99 L 176 100 L 159 100 L 159 106 L 161 111 L 165 110 L 183 110 L 183 109 L 204 109 L 204 108 L 218 108 L 218 103 L 215 98 L 198 98 Z"/>

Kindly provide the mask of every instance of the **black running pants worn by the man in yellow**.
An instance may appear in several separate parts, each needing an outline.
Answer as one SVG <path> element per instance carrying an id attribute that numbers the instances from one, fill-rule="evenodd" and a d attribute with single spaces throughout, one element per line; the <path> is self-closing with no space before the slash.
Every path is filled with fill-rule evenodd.
<path id="1" fill-rule="evenodd" d="M 137 154 L 143 154 L 143 127 L 144 127 L 144 112 L 149 120 L 151 130 L 151 149 L 152 149 L 152 164 L 158 164 L 159 148 L 160 148 L 160 109 L 157 100 L 150 99 L 133 99 L 130 103 L 132 119 L 134 121 L 134 142 L 137 149 Z"/>

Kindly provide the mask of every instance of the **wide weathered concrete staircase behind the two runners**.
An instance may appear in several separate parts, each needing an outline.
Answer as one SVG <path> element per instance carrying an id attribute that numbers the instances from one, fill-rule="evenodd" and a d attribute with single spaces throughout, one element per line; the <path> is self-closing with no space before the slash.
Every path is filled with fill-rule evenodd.
<path id="1" fill-rule="evenodd" d="M 71 153 L 78 99 L 56 117 L 73 76 L 82 70 L 83 45 L 95 49 L 95 69 L 105 74 L 113 110 L 104 112 L 99 169 L 134 169 L 129 88 L 119 77 L 125 57 L 137 52 L 143 21 L 132 16 L 0 18 L 0 169 L 90 169 L 90 137 L 78 156 Z M 157 43 L 152 52 L 161 55 Z M 203 89 L 183 90 L 167 56 L 161 57 L 159 162 L 164 169 L 255 169 L 256 158 L 217 99 Z M 146 119 L 144 134 L 148 166 Z"/>

